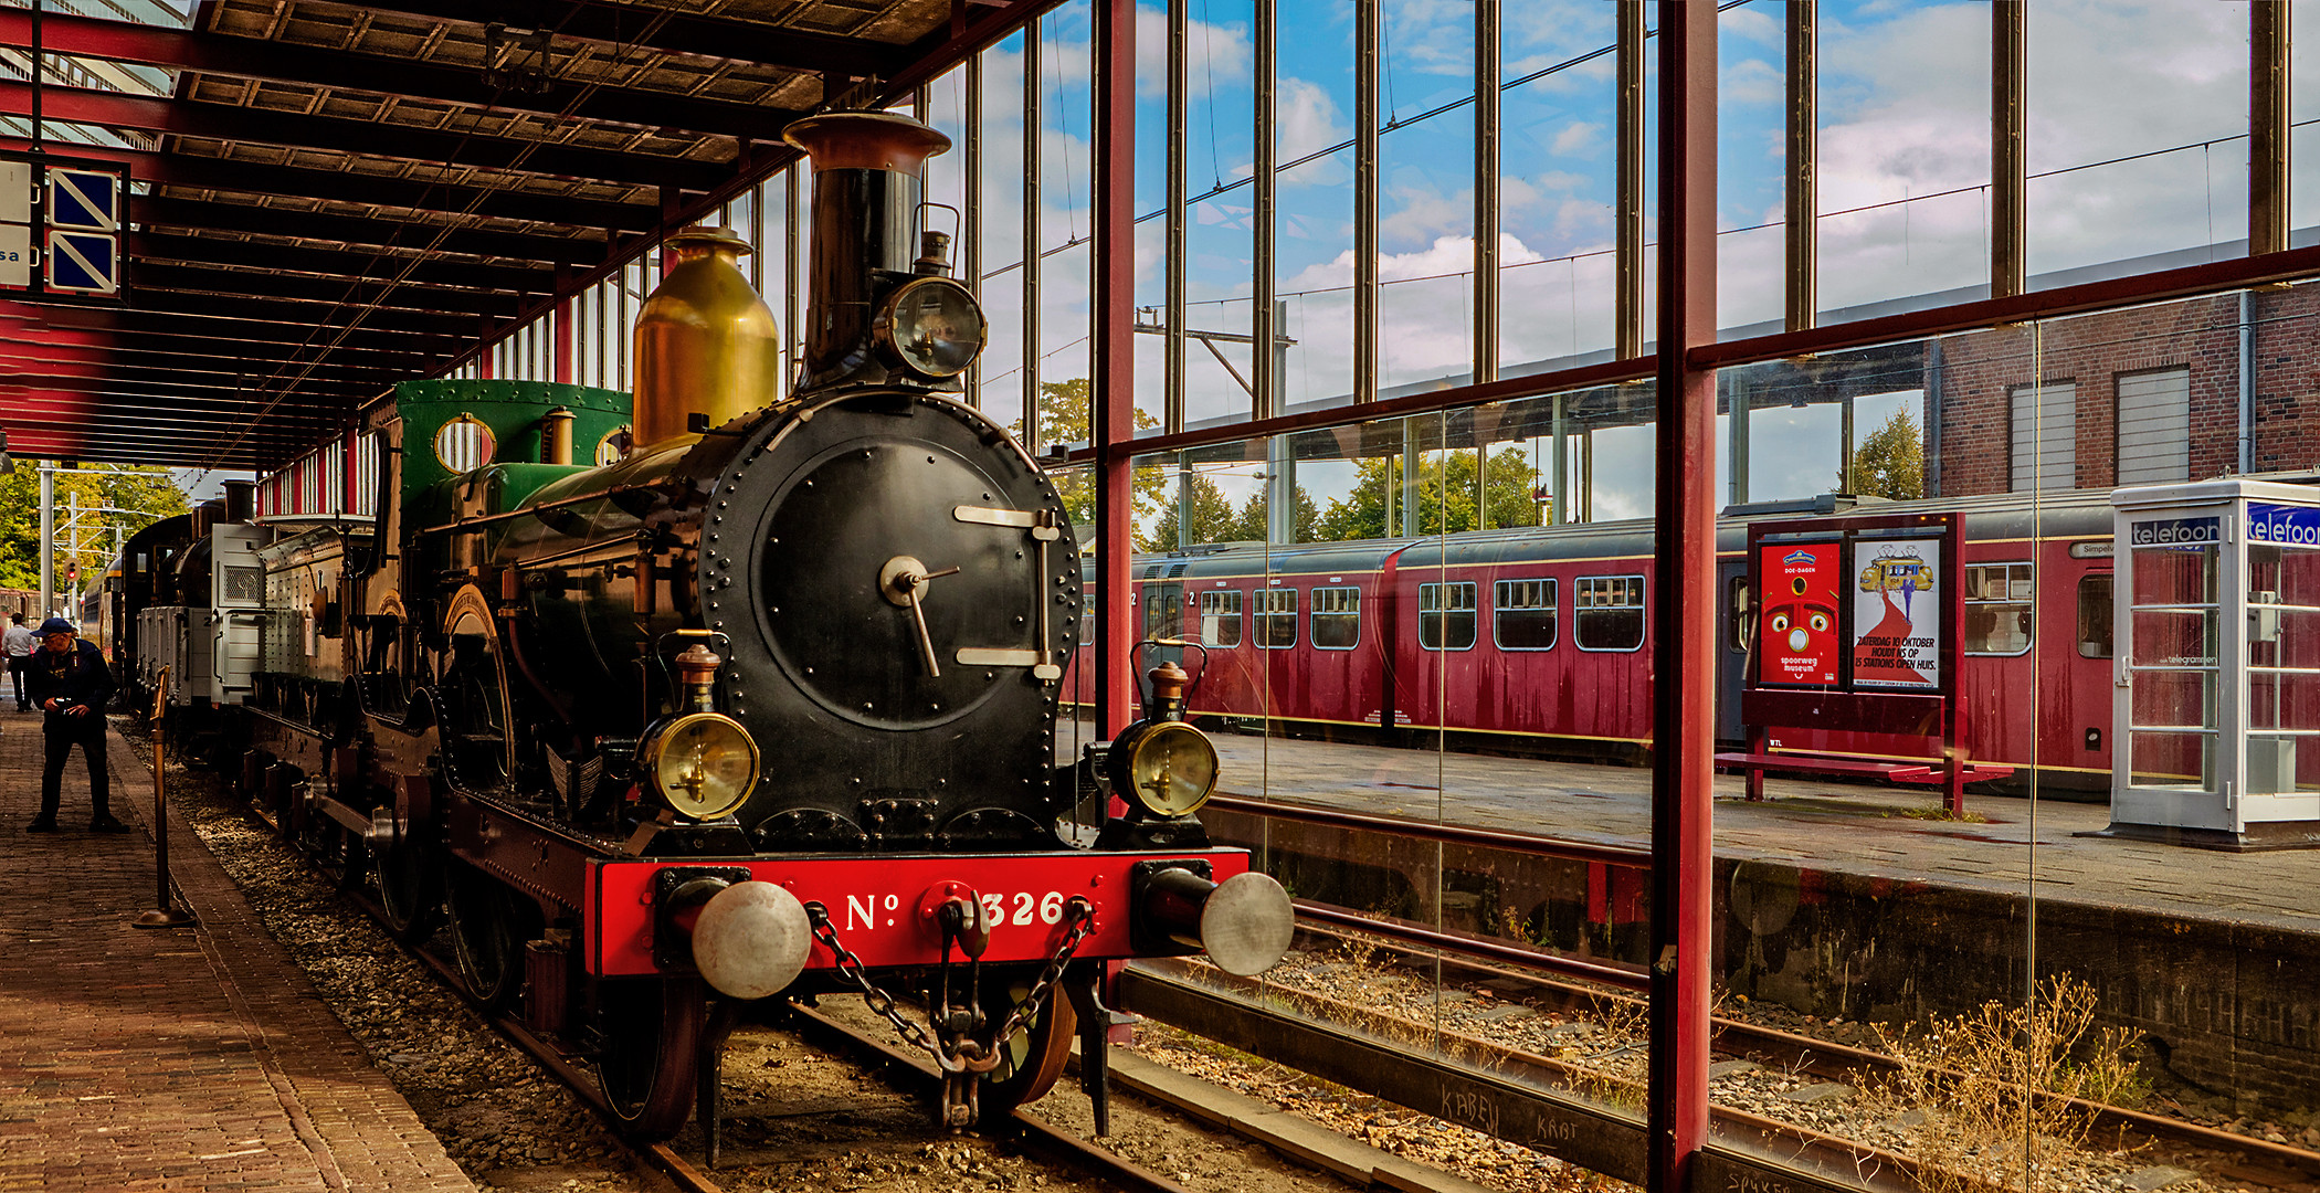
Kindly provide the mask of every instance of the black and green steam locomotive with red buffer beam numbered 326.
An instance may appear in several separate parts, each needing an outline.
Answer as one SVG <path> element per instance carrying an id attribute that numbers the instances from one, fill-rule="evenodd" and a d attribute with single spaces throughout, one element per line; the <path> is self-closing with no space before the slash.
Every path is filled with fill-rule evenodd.
<path id="1" fill-rule="evenodd" d="M 1102 1105 L 1107 961 L 1257 973 L 1290 901 L 1209 845 L 1216 750 L 1169 668 L 1107 750 L 1056 757 L 1079 548 L 956 399 L 986 323 L 914 234 L 949 139 L 884 111 L 786 137 L 814 172 L 789 395 L 747 246 L 684 230 L 633 399 L 397 385 L 125 559 L 176 576 L 142 580 L 125 666 L 172 666 L 262 815 L 399 938 L 443 928 L 466 991 L 592 1063 L 636 1135 L 701 1091 L 715 1140 L 738 1007 L 833 991 L 935 1056 L 947 1123 L 1046 1093 L 1074 1035 Z M 1079 845 L 1058 817 L 1090 798 L 1125 812 Z"/>

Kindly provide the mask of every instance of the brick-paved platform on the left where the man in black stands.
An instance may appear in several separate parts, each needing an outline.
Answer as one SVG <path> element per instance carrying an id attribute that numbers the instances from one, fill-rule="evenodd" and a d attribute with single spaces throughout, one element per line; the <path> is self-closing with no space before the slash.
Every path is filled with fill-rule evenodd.
<path id="1" fill-rule="evenodd" d="M 137 831 L 86 829 L 74 757 L 63 829 L 28 836 L 39 717 L 0 710 L 0 1191 L 471 1191 L 174 815 L 202 924 L 130 926 L 153 905 L 153 778 L 107 740 Z"/>

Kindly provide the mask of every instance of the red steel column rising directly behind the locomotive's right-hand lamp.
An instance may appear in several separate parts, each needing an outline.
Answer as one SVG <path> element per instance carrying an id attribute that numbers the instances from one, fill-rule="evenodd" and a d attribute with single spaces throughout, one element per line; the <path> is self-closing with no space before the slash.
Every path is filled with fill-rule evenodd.
<path id="1" fill-rule="evenodd" d="M 1132 439 L 1137 434 L 1137 0 L 1095 7 L 1095 703 L 1097 733 L 1134 717 L 1134 668 L 1121 650 L 1137 627 L 1128 559 L 1137 545 Z"/>

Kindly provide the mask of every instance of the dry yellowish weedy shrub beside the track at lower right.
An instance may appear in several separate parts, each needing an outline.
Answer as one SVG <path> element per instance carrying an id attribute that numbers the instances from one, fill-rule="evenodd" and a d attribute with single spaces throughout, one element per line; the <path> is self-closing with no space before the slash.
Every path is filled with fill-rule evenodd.
<path id="1" fill-rule="evenodd" d="M 1868 1091 L 1919 1119 L 1914 1151 L 1928 1193 L 2062 1188 L 2051 1161 L 2093 1128 L 2072 1100 L 2125 1105 L 2146 1091 L 2130 1056 L 2134 1033 L 2097 1031 L 2095 989 L 2067 975 L 2028 1005 L 1993 1000 L 1926 1026 L 1877 1026 L 1877 1037 L 1898 1068 Z"/>

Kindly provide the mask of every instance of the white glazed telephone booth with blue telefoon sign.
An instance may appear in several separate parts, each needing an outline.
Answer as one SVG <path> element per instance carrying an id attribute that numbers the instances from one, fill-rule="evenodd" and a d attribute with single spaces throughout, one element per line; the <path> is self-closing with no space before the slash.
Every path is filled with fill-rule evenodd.
<path id="1" fill-rule="evenodd" d="M 2320 490 L 2111 494 L 2111 836 L 2320 845 Z"/>

